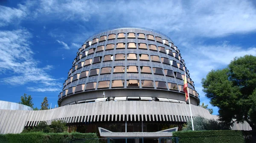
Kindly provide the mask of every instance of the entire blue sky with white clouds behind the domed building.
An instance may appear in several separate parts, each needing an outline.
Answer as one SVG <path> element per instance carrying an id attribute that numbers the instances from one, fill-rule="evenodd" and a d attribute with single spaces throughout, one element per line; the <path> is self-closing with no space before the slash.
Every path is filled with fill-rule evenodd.
<path id="1" fill-rule="evenodd" d="M 256 2 L 248 0 L 38 0 L 0 2 L 0 100 L 32 95 L 52 107 L 76 52 L 88 36 L 118 26 L 140 26 L 172 38 L 201 103 L 201 79 L 235 56 L 256 56 Z M 214 114 L 218 114 L 216 107 Z"/>

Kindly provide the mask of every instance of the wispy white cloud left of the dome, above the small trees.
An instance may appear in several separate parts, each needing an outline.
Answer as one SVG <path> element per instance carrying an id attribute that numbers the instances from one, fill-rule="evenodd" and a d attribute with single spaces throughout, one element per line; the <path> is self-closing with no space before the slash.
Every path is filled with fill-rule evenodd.
<path id="1" fill-rule="evenodd" d="M 47 73 L 51 65 L 38 67 L 39 62 L 33 59 L 28 42 L 32 35 L 26 30 L 0 31 L 0 72 L 6 74 L 1 82 L 3 84 L 24 85 L 33 83 L 38 87 L 28 89 L 45 89 L 44 91 L 61 90 L 57 79 Z M 47 90 L 51 87 L 51 90 Z M 40 90 L 38 90 L 40 91 Z"/>

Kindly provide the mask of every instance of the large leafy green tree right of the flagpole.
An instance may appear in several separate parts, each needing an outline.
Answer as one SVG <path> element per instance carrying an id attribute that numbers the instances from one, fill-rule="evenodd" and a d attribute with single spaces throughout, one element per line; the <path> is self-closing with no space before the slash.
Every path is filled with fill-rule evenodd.
<path id="1" fill-rule="evenodd" d="M 234 58 L 227 68 L 210 71 L 202 85 L 210 103 L 219 108 L 220 121 L 247 121 L 256 131 L 256 56 Z"/>

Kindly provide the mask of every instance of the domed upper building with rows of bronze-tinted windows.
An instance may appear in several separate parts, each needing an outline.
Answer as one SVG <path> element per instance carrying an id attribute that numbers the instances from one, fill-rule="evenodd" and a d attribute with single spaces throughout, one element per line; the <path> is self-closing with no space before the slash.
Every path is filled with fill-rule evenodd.
<path id="1" fill-rule="evenodd" d="M 79 48 L 59 95 L 59 106 L 93 101 L 166 101 L 191 104 L 198 93 L 180 50 L 168 36 L 146 28 L 116 28 L 90 36 Z M 105 98 L 104 98 L 105 97 Z"/>

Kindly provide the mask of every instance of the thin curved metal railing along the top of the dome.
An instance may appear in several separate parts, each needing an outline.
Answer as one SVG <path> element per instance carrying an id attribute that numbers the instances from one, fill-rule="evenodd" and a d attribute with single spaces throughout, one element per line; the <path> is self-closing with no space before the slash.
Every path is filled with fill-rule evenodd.
<path id="1" fill-rule="evenodd" d="M 88 38 L 84 41 L 84 43 L 85 43 L 88 39 L 90 39 L 91 37 L 93 37 L 93 36 L 96 35 L 96 34 L 100 34 L 100 33 L 105 32 L 105 31 L 116 30 L 116 29 L 125 29 L 125 28 L 134 28 L 134 29 L 142 29 L 142 30 L 147 30 L 147 31 L 153 31 L 153 32 L 155 32 L 155 33 L 162 34 L 163 36 L 166 36 L 166 37 L 169 38 L 169 39 L 171 40 L 171 42 L 173 43 L 172 39 L 171 39 L 169 36 L 167 36 L 166 34 L 163 34 L 163 33 L 159 32 L 159 31 L 156 31 L 156 30 L 153 30 L 153 29 L 150 29 L 150 28 L 137 27 L 137 26 L 122 26 L 122 27 L 108 28 L 108 29 L 99 31 L 99 32 L 97 32 L 97 33 L 91 35 L 90 37 L 88 37 Z"/>

